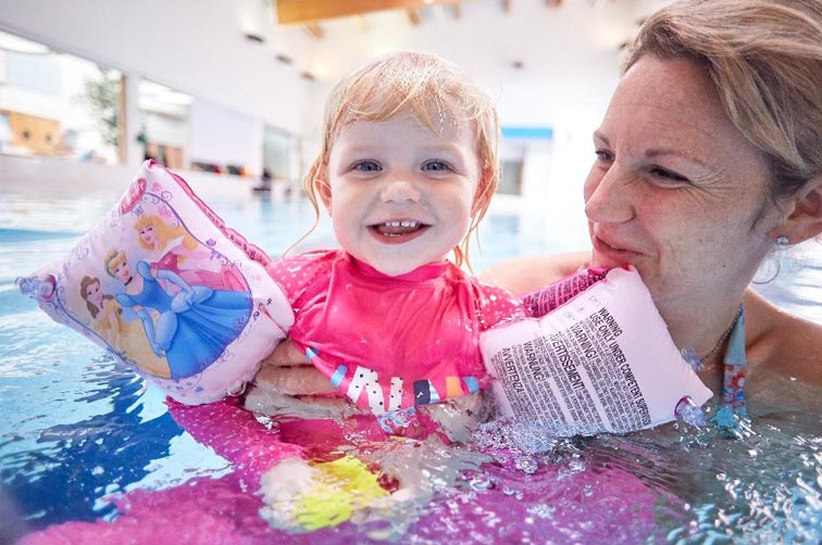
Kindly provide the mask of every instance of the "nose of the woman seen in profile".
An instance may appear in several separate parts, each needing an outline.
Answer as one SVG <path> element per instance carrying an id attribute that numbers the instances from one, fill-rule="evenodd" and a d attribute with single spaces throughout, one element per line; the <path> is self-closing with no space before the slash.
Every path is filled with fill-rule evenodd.
<path id="1" fill-rule="evenodd" d="M 626 175 L 614 164 L 608 170 L 595 166 L 585 181 L 585 215 L 597 224 L 627 221 L 634 217 L 636 194 Z"/>

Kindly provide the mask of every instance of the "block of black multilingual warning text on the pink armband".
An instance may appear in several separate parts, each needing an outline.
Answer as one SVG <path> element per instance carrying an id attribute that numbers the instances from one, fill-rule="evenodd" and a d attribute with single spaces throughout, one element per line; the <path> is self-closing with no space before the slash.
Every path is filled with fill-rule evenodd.
<path id="1" fill-rule="evenodd" d="M 513 416 L 558 428 L 631 431 L 650 411 L 601 307 L 571 327 L 498 351 L 491 358 Z"/>

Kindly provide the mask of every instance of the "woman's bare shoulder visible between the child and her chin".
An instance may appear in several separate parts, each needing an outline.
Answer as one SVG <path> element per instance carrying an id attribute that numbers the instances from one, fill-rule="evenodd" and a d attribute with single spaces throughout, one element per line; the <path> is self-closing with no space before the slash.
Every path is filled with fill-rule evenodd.
<path id="1" fill-rule="evenodd" d="M 519 257 L 490 267 L 479 278 L 522 295 L 575 272 L 589 258 L 589 251 Z"/>

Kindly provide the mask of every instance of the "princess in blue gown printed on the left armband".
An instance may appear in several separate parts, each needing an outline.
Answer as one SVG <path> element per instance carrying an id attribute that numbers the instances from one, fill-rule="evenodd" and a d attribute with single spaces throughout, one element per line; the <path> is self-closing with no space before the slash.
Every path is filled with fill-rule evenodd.
<path id="1" fill-rule="evenodd" d="M 105 271 L 125 286 L 115 300 L 140 317 L 151 348 L 165 357 L 175 380 L 213 364 L 251 317 L 248 292 L 189 286 L 176 272 L 152 268 L 145 261 L 137 262 L 134 274 L 119 250 L 105 256 Z M 176 291 L 169 293 L 159 280 Z"/>

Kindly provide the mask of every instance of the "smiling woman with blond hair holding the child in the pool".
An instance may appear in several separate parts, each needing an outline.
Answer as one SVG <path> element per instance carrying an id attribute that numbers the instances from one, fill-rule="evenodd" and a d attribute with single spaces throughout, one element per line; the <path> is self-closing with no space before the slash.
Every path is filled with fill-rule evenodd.
<path id="1" fill-rule="evenodd" d="M 585 264 L 630 263 L 714 393 L 730 379 L 755 406 L 819 407 L 822 327 L 748 284 L 772 249 L 822 232 L 822 1 L 658 11 L 626 52 L 594 143 L 584 189 L 593 252 L 505 263 L 486 279 L 524 293 Z M 310 370 L 281 369 L 300 359 L 282 345 L 260 382 L 325 391 Z M 747 369 L 747 384 L 726 369 Z"/>

